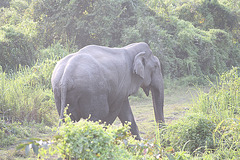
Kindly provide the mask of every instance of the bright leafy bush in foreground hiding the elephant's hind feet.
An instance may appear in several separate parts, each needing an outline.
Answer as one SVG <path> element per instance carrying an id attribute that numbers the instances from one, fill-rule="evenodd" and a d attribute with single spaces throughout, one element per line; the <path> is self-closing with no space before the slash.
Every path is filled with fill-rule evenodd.
<path id="1" fill-rule="evenodd" d="M 87 120 L 74 123 L 65 116 L 65 123 L 55 136 L 55 147 L 47 152 L 43 149 L 41 156 L 54 153 L 67 159 L 133 159 L 122 141 L 130 136 L 127 126 L 113 129 Z"/>

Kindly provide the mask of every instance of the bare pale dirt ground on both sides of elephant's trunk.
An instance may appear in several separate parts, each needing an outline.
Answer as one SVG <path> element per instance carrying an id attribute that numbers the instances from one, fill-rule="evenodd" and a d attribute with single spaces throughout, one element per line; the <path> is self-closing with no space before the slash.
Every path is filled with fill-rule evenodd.
<path id="1" fill-rule="evenodd" d="M 195 87 L 166 90 L 164 95 L 166 125 L 183 117 L 190 109 L 192 100 L 196 97 L 197 89 Z M 129 99 L 141 137 L 144 139 L 154 137 L 156 125 L 152 98 L 143 96 L 143 98 L 130 97 Z M 120 121 L 117 120 L 115 125 L 120 125 Z"/>

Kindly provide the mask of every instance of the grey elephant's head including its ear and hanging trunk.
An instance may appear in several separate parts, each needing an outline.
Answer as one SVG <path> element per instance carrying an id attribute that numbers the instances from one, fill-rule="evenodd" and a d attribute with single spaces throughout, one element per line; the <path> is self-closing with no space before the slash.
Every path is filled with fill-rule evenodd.
<path id="1" fill-rule="evenodd" d="M 138 53 L 133 62 L 133 72 L 142 79 L 141 88 L 148 96 L 152 92 L 155 120 L 157 123 L 164 123 L 163 103 L 164 86 L 159 59 L 149 49 Z"/>

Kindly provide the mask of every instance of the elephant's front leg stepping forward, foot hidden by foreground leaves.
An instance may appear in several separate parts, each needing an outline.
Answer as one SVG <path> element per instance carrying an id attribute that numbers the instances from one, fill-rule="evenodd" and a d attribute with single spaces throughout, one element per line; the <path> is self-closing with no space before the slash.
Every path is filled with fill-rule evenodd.
<path id="1" fill-rule="evenodd" d="M 126 123 L 126 121 L 131 122 L 130 127 L 131 127 L 132 135 L 135 135 L 137 140 L 141 140 L 139 131 L 138 131 L 138 127 L 137 127 L 137 124 L 133 117 L 132 109 L 130 107 L 128 99 L 126 101 L 124 101 L 124 103 L 121 107 L 121 111 L 118 114 L 118 118 L 120 119 L 120 121 L 122 122 L 123 125 Z"/>

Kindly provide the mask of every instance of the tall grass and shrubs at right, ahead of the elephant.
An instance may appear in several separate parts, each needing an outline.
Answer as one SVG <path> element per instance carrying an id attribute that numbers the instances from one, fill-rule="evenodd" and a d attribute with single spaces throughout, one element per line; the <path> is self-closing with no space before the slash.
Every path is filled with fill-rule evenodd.
<path id="1" fill-rule="evenodd" d="M 239 68 L 219 76 L 209 93 L 199 90 L 189 113 L 164 129 L 161 144 L 203 159 L 240 157 Z"/>

